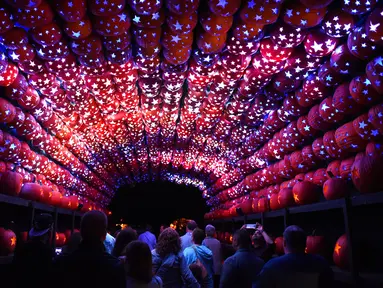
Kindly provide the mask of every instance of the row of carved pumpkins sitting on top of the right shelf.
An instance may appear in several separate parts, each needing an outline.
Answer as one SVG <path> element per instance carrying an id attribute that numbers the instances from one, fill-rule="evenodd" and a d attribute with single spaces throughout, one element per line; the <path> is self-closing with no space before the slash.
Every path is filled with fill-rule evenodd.
<path id="1" fill-rule="evenodd" d="M 349 196 L 353 187 L 361 193 L 383 191 L 383 182 L 380 181 L 383 175 L 382 152 L 381 144 L 371 142 L 365 152 L 355 157 L 332 161 L 327 168 L 300 173 L 281 184 L 227 201 L 222 209 L 206 213 L 205 218 L 237 216 L 237 208 L 241 208 L 244 214 L 251 214 L 311 204 L 320 201 L 322 195 L 326 200 L 340 199 Z"/>

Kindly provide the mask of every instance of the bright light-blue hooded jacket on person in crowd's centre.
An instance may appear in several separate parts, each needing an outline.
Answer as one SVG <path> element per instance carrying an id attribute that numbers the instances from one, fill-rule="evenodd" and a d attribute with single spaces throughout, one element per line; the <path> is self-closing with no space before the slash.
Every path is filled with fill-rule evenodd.
<path id="1" fill-rule="evenodd" d="M 203 245 L 192 245 L 184 250 L 184 256 L 187 265 L 193 264 L 197 261 L 197 258 L 205 266 L 207 276 L 204 279 L 205 287 L 213 288 L 213 275 L 214 275 L 214 263 L 213 252 L 209 248 Z"/>

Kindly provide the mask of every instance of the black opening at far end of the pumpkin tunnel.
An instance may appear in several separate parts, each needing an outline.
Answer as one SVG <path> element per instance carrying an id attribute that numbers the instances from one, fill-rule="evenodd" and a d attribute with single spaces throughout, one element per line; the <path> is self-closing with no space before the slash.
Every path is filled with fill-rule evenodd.
<path id="1" fill-rule="evenodd" d="M 203 216 L 209 210 L 199 189 L 171 182 L 121 187 L 110 209 L 111 225 L 121 223 L 122 219 L 130 226 L 149 223 L 157 231 L 161 224 L 169 225 L 178 218 L 194 219 L 204 227 Z"/>

